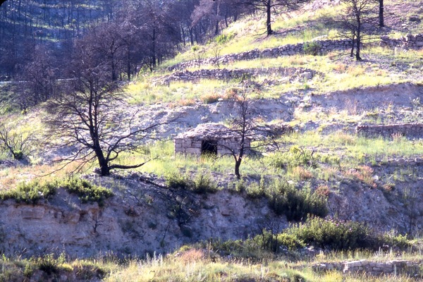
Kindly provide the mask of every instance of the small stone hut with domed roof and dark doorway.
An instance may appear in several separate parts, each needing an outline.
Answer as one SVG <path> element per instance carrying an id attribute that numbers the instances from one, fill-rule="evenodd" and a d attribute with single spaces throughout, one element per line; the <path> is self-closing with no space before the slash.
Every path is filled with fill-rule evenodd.
<path id="1" fill-rule="evenodd" d="M 231 154 L 239 147 L 240 136 L 219 123 L 203 123 L 196 128 L 178 134 L 174 138 L 175 153 L 195 154 Z M 245 147 L 250 147 L 247 139 Z"/>

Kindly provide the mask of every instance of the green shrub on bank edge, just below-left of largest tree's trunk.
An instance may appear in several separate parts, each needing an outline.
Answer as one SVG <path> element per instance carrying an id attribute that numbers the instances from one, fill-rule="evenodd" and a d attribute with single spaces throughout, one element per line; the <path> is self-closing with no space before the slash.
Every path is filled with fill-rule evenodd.
<path id="1" fill-rule="evenodd" d="M 104 205 L 104 200 L 113 196 L 111 190 L 93 185 L 85 179 L 68 178 L 68 180 L 63 180 L 60 185 L 68 192 L 78 195 L 82 202 L 97 202 L 100 207 Z"/>

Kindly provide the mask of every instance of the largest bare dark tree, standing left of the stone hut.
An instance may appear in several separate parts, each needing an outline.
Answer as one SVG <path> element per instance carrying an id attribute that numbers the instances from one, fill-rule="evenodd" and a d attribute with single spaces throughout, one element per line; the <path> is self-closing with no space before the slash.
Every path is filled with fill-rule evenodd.
<path id="1" fill-rule="evenodd" d="M 61 160 L 66 164 L 80 161 L 78 168 L 97 160 L 100 174 L 108 176 L 113 169 L 144 165 L 145 160 L 123 165 L 118 157 L 122 152 L 140 149 L 163 123 L 125 109 L 125 97 L 117 91 L 109 59 L 98 54 L 91 43 L 89 38 L 77 42 L 66 94 L 47 104 L 47 124 L 51 139 L 61 140 L 59 147 L 76 148 Z M 135 119 L 143 121 L 142 125 L 135 125 Z"/>

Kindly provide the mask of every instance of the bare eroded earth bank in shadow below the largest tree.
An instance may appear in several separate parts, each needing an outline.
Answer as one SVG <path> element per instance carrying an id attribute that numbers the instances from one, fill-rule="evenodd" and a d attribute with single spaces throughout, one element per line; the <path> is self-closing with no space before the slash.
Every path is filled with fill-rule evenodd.
<path id="1" fill-rule="evenodd" d="M 83 204 L 63 189 L 35 205 L 0 202 L 1 252 L 23 257 L 61 252 L 71 257 L 109 252 L 144 256 L 209 238 L 247 238 L 259 233 L 266 216 L 276 220 L 265 201 L 251 202 L 228 191 L 209 194 L 206 201 L 193 192 L 148 185 L 141 177 L 102 178 L 102 185 L 116 192 L 104 207 Z"/>

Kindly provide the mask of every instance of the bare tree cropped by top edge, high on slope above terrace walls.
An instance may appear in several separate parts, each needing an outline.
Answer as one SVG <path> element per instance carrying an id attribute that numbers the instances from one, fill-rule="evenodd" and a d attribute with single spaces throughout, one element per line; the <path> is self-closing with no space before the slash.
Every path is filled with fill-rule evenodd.
<path id="1" fill-rule="evenodd" d="M 264 11 L 266 13 L 266 33 L 272 35 L 274 31 L 271 29 L 271 15 L 276 9 L 290 11 L 298 8 L 299 4 L 308 0 L 241 0 L 241 2 L 254 8 L 255 10 Z"/>

